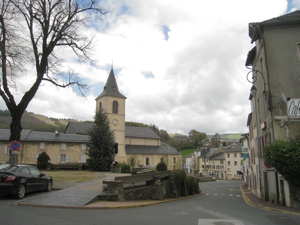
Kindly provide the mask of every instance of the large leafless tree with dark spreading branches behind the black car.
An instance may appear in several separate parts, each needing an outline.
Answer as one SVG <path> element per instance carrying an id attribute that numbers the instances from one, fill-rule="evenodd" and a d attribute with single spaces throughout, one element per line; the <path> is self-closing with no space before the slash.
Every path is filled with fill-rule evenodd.
<path id="1" fill-rule="evenodd" d="M 80 28 L 88 27 L 91 17 L 102 19 L 109 10 L 95 0 L 2 0 L 0 4 L 0 95 L 11 114 L 9 140 L 13 141 L 20 139 L 22 114 L 43 81 L 71 86 L 84 95 L 88 86 L 71 69 L 64 71 L 58 52 L 68 47 L 80 61 L 92 62 L 93 38 Z M 17 103 L 17 81 L 30 78 L 31 86 Z"/>

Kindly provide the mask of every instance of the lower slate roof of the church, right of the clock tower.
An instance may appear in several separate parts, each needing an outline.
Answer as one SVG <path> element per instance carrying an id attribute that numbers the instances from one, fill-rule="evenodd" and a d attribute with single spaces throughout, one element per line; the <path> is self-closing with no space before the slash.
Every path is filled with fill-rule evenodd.
<path id="1" fill-rule="evenodd" d="M 160 142 L 160 146 L 153 145 L 125 145 L 127 154 L 181 154 L 167 143 Z"/>

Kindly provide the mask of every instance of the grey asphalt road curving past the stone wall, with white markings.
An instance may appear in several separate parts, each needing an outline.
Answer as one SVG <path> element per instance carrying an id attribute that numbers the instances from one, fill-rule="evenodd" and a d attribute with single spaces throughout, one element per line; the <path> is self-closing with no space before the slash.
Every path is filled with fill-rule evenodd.
<path id="1" fill-rule="evenodd" d="M 300 224 L 300 216 L 271 212 L 245 203 L 241 181 L 204 182 L 205 194 L 123 209 L 66 209 L 10 206 L 15 200 L 0 195 L 0 224 Z M 44 192 L 28 193 L 33 197 Z"/>

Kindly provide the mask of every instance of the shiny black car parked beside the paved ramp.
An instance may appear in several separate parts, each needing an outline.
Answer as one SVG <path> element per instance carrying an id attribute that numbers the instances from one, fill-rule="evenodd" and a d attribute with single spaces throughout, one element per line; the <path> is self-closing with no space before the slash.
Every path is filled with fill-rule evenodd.
<path id="1" fill-rule="evenodd" d="M 53 180 L 32 165 L 11 164 L 0 168 L 0 193 L 9 193 L 17 199 L 25 193 L 52 189 Z"/>

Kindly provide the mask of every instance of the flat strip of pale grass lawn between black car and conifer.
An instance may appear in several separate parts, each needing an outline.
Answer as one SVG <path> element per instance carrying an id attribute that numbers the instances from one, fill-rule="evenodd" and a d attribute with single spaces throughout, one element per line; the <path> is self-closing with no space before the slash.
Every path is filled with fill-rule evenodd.
<path id="1" fill-rule="evenodd" d="M 84 182 L 101 176 L 99 172 L 88 170 L 43 170 L 43 172 L 53 178 L 53 180 Z"/>

